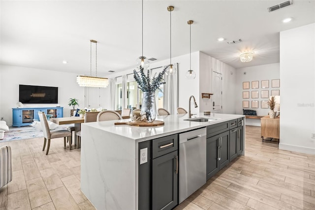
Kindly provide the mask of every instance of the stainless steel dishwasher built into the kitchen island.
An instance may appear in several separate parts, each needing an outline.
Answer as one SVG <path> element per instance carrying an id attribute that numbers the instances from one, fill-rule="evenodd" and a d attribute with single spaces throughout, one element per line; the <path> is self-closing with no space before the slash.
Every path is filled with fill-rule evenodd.
<path id="1" fill-rule="evenodd" d="M 179 135 L 179 203 L 206 183 L 206 128 Z"/>

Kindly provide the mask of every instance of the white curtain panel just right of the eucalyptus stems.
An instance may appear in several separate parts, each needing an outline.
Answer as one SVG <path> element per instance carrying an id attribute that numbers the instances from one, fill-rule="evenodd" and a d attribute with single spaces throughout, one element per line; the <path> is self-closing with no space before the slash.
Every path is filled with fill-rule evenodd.
<path id="1" fill-rule="evenodd" d="M 178 107 L 178 63 L 173 65 L 176 70 L 174 75 L 164 74 L 164 108 L 171 114 L 177 114 Z M 163 69 L 165 66 L 163 67 Z"/>

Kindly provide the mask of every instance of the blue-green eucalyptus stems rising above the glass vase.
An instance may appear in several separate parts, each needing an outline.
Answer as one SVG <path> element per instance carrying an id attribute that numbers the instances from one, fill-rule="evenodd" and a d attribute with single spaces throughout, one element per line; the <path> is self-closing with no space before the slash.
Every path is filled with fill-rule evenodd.
<path id="1" fill-rule="evenodd" d="M 165 74 L 167 68 L 168 66 L 159 72 L 158 76 L 157 73 L 155 73 L 151 79 L 150 69 L 147 69 L 147 72 L 145 73 L 143 67 L 140 66 L 137 68 L 139 72 L 133 70 L 133 78 L 138 83 L 138 88 L 143 92 L 155 92 L 157 89 L 160 90 L 159 86 L 161 84 L 165 84 L 163 75 Z"/>

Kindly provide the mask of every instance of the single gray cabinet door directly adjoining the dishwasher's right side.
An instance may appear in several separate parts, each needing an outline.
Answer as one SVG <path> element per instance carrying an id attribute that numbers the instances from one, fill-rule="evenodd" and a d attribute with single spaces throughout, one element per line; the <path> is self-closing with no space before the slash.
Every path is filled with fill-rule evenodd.
<path id="1" fill-rule="evenodd" d="M 219 135 L 207 139 L 207 180 L 219 172 Z"/>

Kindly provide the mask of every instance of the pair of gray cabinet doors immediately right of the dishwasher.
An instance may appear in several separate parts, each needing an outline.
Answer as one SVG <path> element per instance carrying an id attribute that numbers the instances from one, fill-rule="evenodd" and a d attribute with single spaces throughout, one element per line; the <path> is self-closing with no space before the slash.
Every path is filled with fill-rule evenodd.
<path id="1" fill-rule="evenodd" d="M 229 136 L 230 132 L 225 131 L 207 139 L 207 179 L 229 163 Z"/>

